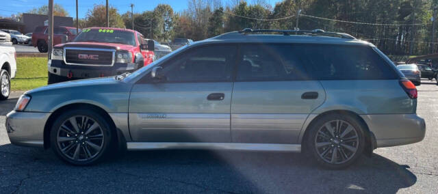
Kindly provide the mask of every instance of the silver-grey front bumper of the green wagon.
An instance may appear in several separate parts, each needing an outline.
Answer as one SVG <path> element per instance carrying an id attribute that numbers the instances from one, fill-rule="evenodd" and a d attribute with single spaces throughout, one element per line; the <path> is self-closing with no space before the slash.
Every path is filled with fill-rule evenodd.
<path id="1" fill-rule="evenodd" d="M 6 115 L 6 130 L 12 144 L 44 147 L 44 125 L 50 113 L 16 112 Z"/>

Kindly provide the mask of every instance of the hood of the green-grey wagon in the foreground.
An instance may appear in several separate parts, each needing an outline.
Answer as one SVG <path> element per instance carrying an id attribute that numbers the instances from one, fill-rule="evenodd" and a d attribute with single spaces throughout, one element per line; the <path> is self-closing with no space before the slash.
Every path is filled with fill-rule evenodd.
<path id="1" fill-rule="evenodd" d="M 94 87 L 97 85 L 111 85 L 116 83 L 120 83 L 120 81 L 116 81 L 114 77 L 81 79 L 81 80 L 66 81 L 62 83 L 55 83 L 43 87 L 38 87 L 36 89 L 32 89 L 25 92 L 25 94 L 32 95 L 37 92 L 49 92 L 51 90 L 57 90 L 57 89 L 71 89 L 73 87 Z"/>

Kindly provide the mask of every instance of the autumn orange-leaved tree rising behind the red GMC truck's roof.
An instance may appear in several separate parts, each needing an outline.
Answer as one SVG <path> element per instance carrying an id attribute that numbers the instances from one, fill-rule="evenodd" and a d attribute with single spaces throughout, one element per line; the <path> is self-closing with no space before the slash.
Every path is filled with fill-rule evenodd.
<path id="1" fill-rule="evenodd" d="M 122 16 L 118 14 L 116 8 L 110 6 L 108 15 L 110 17 L 110 27 L 125 28 L 125 23 L 123 23 Z M 92 10 L 88 10 L 86 20 L 88 27 L 106 27 L 107 20 L 105 5 L 94 5 Z"/>

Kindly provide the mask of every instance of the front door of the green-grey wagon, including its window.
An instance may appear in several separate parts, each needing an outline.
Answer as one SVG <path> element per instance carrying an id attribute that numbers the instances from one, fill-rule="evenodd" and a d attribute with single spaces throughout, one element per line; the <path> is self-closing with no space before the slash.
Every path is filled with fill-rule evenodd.
<path id="1" fill-rule="evenodd" d="M 230 106 L 235 46 L 189 48 L 157 64 L 136 83 L 129 100 L 133 141 L 230 142 Z"/>

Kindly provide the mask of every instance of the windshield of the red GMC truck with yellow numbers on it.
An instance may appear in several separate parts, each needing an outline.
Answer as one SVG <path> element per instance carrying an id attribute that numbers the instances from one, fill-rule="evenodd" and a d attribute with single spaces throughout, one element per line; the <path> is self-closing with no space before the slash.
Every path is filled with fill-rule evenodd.
<path id="1" fill-rule="evenodd" d="M 133 32 L 117 29 L 83 29 L 73 42 L 108 42 L 136 46 Z"/>

